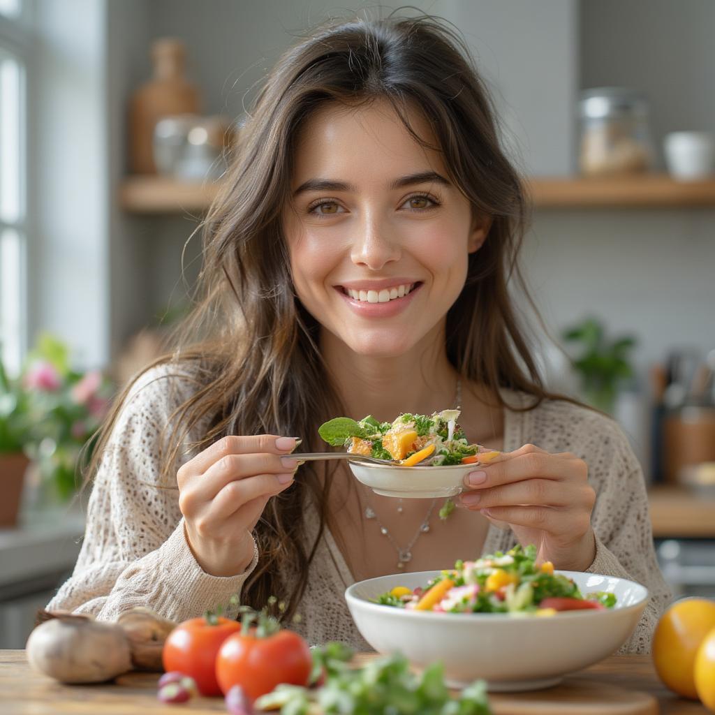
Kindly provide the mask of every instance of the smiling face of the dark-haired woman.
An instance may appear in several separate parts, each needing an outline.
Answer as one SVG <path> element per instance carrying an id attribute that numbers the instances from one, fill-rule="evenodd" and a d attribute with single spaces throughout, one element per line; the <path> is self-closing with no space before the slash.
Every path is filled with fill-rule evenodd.
<path id="1" fill-rule="evenodd" d="M 418 112 L 410 122 L 434 143 Z M 283 230 L 297 295 L 359 355 L 403 355 L 443 321 L 489 227 L 473 220 L 439 152 L 381 102 L 313 114 L 291 192 Z"/>

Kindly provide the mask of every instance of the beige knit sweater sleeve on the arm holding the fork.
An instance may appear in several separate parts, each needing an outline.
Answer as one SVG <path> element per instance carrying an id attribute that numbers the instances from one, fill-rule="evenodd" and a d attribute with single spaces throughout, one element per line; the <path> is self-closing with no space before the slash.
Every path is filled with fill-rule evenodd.
<path id="1" fill-rule="evenodd" d="M 238 576 L 202 571 L 187 543 L 175 478 L 170 485 L 159 482 L 162 428 L 192 384 L 188 375 L 160 367 L 132 386 L 94 479 L 74 572 L 48 609 L 114 620 L 129 608 L 148 606 L 184 621 L 220 604 L 227 616 L 237 615 L 238 606 L 229 606 L 229 599 L 240 597 L 257 563 L 257 548 Z"/>

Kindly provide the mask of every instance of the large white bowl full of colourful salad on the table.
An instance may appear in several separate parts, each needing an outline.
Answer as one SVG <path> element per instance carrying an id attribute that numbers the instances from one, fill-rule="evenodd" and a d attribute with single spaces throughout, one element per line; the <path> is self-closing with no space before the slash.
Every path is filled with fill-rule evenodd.
<path id="1" fill-rule="evenodd" d="M 618 650 L 648 603 L 644 586 L 560 571 L 516 547 L 445 571 L 393 573 L 349 586 L 345 601 L 378 653 L 441 661 L 445 681 L 491 691 L 545 688 Z"/>

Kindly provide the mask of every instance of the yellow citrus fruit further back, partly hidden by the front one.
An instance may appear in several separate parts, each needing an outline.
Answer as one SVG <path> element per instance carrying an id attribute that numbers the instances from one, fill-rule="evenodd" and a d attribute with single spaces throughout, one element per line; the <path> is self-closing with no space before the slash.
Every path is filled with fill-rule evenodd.
<path id="1" fill-rule="evenodd" d="M 715 628 L 715 601 L 686 598 L 661 617 L 653 636 L 653 662 L 660 679 L 672 691 L 698 699 L 695 656 L 705 636 Z"/>

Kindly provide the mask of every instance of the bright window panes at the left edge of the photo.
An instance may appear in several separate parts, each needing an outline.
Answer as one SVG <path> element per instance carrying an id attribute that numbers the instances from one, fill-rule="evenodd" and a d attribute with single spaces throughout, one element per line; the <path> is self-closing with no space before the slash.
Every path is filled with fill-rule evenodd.
<path id="1" fill-rule="evenodd" d="M 0 357 L 17 373 L 26 342 L 26 28 L 0 0 Z"/>

